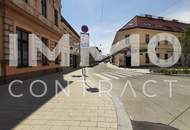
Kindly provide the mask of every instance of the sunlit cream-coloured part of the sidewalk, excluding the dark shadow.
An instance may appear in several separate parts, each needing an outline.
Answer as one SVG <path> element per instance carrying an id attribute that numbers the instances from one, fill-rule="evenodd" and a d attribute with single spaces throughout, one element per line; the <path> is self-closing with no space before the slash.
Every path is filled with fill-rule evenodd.
<path id="1" fill-rule="evenodd" d="M 69 86 L 69 97 L 60 92 L 14 130 L 117 130 L 117 115 L 112 99 L 90 92 L 83 96 L 83 84 L 77 82 L 82 79 L 80 75 L 81 70 L 78 70 L 65 76 L 65 80 L 73 81 Z"/>

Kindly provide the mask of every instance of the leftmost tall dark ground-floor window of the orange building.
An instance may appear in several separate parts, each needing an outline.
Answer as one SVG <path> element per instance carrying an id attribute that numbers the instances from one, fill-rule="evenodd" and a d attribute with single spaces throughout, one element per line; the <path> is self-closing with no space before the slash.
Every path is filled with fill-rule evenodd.
<path id="1" fill-rule="evenodd" d="M 18 35 L 18 67 L 28 66 L 28 32 L 17 28 Z"/>

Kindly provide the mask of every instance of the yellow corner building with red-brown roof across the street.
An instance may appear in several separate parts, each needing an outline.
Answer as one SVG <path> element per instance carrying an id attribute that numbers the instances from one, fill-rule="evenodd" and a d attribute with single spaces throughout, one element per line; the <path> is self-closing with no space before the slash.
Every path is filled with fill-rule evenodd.
<path id="1" fill-rule="evenodd" d="M 116 33 L 113 45 L 119 44 L 119 41 L 128 38 L 132 34 L 139 34 L 140 66 L 153 66 L 147 52 L 150 39 L 159 33 L 170 33 L 180 39 L 187 26 L 188 24 L 177 20 L 166 20 L 163 17 L 153 17 L 151 15 L 135 16 Z M 159 40 L 159 37 L 157 39 Z M 168 59 L 173 55 L 172 45 L 168 41 L 161 41 L 156 47 L 156 53 L 160 59 Z M 130 47 L 113 55 L 111 62 L 120 67 L 131 67 Z M 178 65 L 180 64 L 181 59 Z"/>

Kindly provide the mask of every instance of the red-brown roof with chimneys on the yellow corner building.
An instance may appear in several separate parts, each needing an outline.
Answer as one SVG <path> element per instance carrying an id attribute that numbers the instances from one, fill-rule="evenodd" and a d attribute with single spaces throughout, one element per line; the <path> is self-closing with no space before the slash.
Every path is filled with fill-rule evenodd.
<path id="1" fill-rule="evenodd" d="M 135 16 L 119 31 L 145 28 L 170 32 L 184 32 L 185 27 L 190 24 L 179 22 L 178 20 L 166 20 L 163 17 L 153 17 L 152 15 Z"/>

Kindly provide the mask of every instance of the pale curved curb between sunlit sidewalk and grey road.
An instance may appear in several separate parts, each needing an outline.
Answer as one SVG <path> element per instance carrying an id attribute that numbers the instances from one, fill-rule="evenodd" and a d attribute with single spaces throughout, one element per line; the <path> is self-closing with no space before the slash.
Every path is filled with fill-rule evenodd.
<path id="1" fill-rule="evenodd" d="M 131 120 L 124 109 L 123 103 L 116 96 L 113 96 L 112 100 L 117 112 L 118 130 L 133 130 Z"/>

